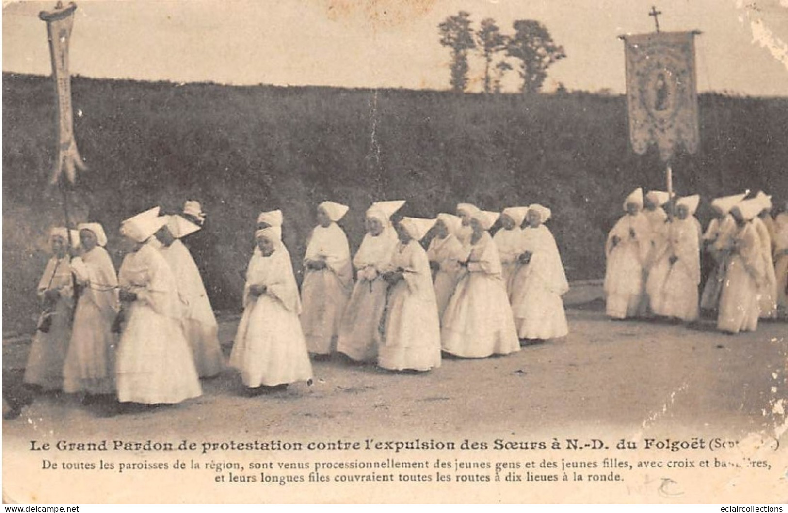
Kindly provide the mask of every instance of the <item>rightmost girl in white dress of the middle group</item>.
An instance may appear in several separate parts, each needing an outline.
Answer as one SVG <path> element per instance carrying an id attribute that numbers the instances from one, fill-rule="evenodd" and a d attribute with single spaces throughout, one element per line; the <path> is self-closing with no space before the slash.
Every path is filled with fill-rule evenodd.
<path id="1" fill-rule="evenodd" d="M 530 205 L 522 229 L 519 266 L 512 277 L 511 312 L 521 339 L 546 340 L 569 333 L 561 296 L 569 290 L 556 239 L 545 226 L 550 209 Z"/>

